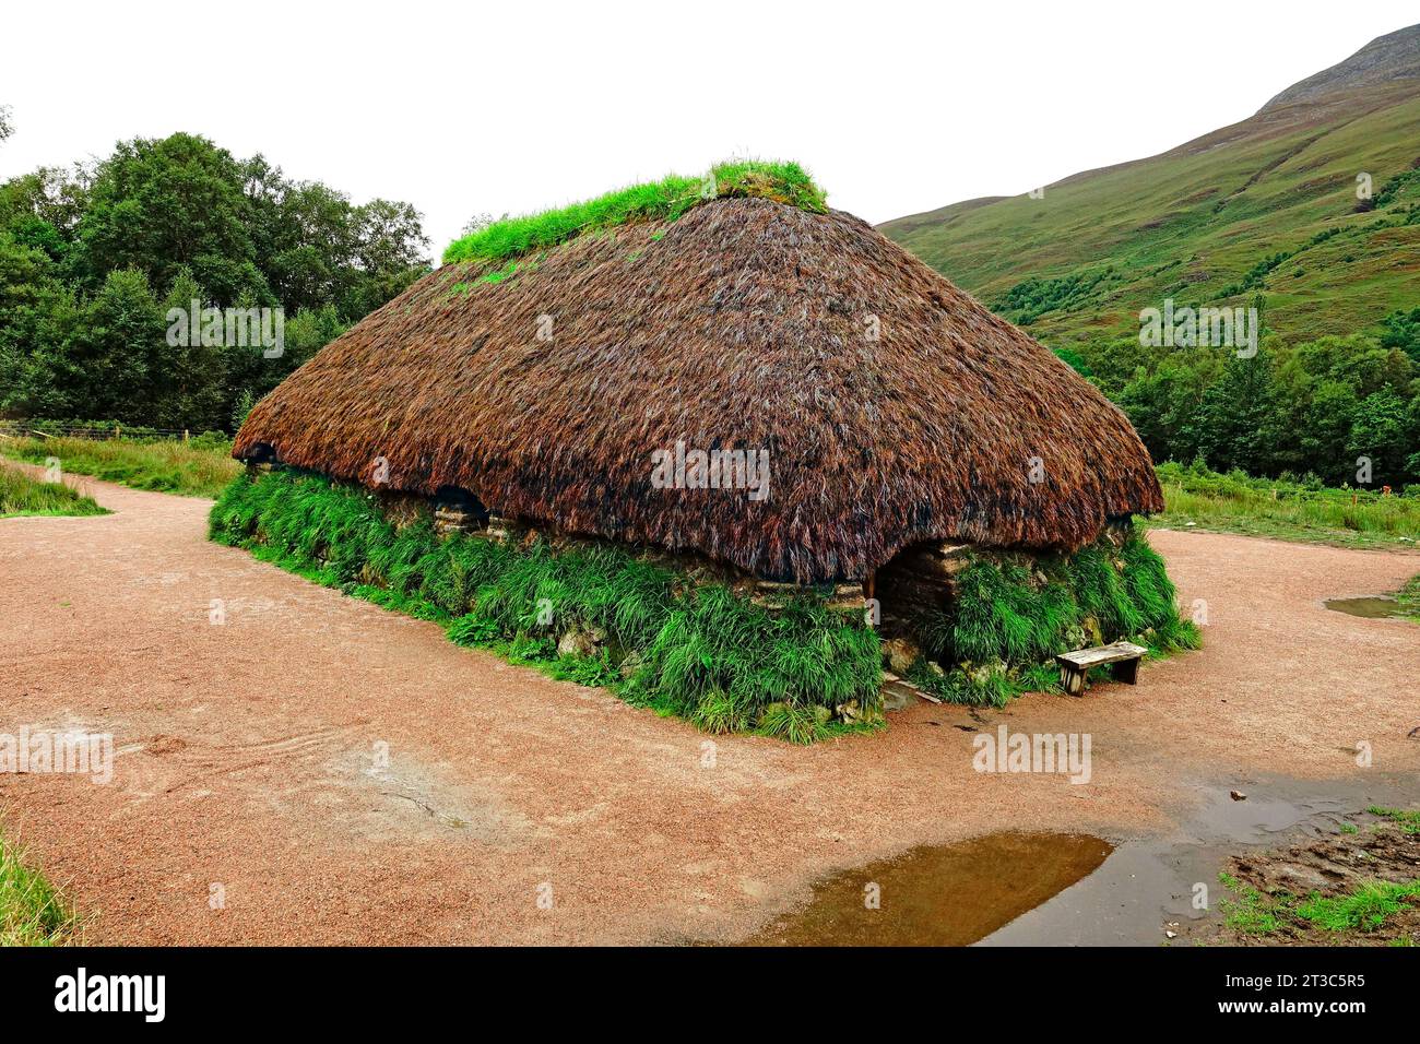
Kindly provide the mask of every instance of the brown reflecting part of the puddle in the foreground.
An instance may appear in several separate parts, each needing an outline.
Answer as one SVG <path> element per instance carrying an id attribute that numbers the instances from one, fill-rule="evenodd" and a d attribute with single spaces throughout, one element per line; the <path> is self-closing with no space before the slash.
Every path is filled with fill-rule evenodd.
<path id="1" fill-rule="evenodd" d="M 807 906 L 746 945 L 966 946 L 1089 876 L 1112 851 L 1100 838 L 1044 832 L 914 848 L 819 881 Z"/>

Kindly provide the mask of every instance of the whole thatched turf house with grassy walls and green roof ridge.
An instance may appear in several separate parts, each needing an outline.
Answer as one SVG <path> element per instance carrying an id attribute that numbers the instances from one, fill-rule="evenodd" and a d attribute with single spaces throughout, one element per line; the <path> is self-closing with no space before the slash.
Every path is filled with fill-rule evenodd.
<path id="1" fill-rule="evenodd" d="M 216 540 L 710 732 L 1191 645 L 1125 416 L 794 163 L 497 222 L 256 405 Z M 892 690 L 889 689 L 889 697 Z"/>

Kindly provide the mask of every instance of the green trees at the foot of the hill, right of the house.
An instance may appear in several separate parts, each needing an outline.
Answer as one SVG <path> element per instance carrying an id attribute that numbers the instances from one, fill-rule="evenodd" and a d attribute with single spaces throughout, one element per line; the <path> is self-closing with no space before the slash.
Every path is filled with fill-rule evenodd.
<path id="1" fill-rule="evenodd" d="M 1350 337 L 1264 334 L 1251 358 L 1139 338 L 1059 355 L 1125 410 L 1156 462 L 1329 486 L 1420 484 L 1420 310 Z"/>

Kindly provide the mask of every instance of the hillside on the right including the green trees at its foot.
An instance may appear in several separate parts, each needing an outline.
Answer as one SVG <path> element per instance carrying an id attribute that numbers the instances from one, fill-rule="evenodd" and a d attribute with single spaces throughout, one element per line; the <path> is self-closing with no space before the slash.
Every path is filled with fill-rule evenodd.
<path id="1" fill-rule="evenodd" d="M 880 227 L 1093 381 L 1154 460 L 1420 497 L 1420 26 L 1163 155 Z M 1242 348 L 1176 335 L 1190 308 L 1260 322 L 1241 312 Z M 1167 337 L 1140 342 L 1145 310 Z"/>

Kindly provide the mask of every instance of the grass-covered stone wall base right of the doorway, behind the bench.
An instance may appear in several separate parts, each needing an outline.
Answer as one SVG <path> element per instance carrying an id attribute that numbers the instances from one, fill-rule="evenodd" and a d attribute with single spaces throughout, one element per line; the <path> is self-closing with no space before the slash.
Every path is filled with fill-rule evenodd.
<path id="1" fill-rule="evenodd" d="M 1179 616 L 1163 558 L 1137 533 L 1072 555 L 977 555 L 950 611 L 930 616 L 909 680 L 953 703 L 1004 706 L 1022 692 L 1058 692 L 1055 656 L 1129 639 L 1152 658 L 1201 645 Z"/>

